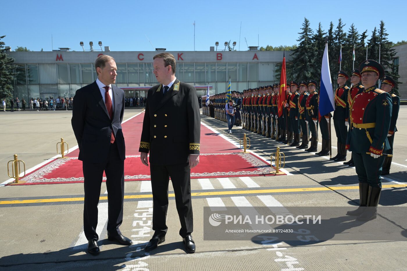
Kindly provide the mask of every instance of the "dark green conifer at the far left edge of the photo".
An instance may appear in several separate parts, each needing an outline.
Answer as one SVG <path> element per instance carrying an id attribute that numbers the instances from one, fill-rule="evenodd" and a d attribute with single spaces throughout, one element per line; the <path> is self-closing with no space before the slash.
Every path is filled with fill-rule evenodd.
<path id="1" fill-rule="evenodd" d="M 5 36 L 0 37 L 0 99 L 12 98 L 13 92 L 13 70 L 15 69 L 14 59 L 6 54 L 5 43 L 1 41 Z"/>

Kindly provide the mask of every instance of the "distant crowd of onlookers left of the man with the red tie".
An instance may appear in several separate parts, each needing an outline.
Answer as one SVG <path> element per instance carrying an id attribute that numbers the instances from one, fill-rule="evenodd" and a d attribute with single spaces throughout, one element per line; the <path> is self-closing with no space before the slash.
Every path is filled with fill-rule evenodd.
<path id="1" fill-rule="evenodd" d="M 10 112 L 16 111 L 25 111 L 30 110 L 37 110 L 37 111 L 55 111 L 55 109 L 66 109 L 68 110 L 69 108 L 72 108 L 72 103 L 73 103 L 73 98 L 72 97 L 58 97 L 58 98 L 31 98 L 28 101 L 26 101 L 24 98 L 21 100 L 17 98 L 4 98 L 2 100 L 2 107 L 3 111 L 6 111 L 7 107 L 7 100 L 9 100 L 10 103 Z"/>

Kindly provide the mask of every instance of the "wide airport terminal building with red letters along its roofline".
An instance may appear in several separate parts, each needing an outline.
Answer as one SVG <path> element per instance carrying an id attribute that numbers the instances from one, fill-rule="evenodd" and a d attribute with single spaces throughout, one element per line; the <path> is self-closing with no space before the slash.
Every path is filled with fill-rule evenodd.
<path id="1" fill-rule="evenodd" d="M 195 85 L 198 94 L 225 92 L 229 77 L 232 91 L 276 83 L 280 76 L 283 52 L 258 51 L 173 51 L 177 61 L 175 76 Z M 116 85 L 127 97 L 145 96 L 156 85 L 153 56 L 165 49 L 147 52 L 70 51 L 60 48 L 52 52 L 7 52 L 15 59 L 14 97 L 48 98 L 73 97 L 76 90 L 96 80 L 94 62 L 105 54 L 116 60 Z M 291 61 L 291 52 L 286 60 Z"/>

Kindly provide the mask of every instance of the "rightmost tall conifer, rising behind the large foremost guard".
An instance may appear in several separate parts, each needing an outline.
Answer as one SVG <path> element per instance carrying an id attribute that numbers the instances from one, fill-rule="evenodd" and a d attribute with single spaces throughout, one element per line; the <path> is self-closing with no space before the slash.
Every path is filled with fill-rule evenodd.
<path id="1" fill-rule="evenodd" d="M 389 42 L 387 36 L 389 34 L 386 33 L 386 29 L 384 28 L 384 22 L 380 21 L 380 29 L 378 31 L 379 37 L 379 44 L 380 44 L 380 63 L 385 70 L 385 74 L 389 75 L 396 81 L 398 84 L 398 72 L 396 70 L 396 66 L 394 65 L 393 59 L 396 57 L 396 50 L 394 50 L 392 42 Z M 396 95 L 398 94 L 398 89 L 394 89 Z"/>

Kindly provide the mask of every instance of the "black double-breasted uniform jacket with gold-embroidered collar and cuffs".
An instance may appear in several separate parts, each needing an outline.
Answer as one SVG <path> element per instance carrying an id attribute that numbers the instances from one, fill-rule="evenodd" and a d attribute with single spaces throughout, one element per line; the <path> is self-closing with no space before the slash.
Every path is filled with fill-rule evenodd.
<path id="1" fill-rule="evenodd" d="M 139 151 L 150 153 L 151 164 L 187 163 L 188 155 L 199 154 L 201 120 L 196 97 L 195 87 L 178 79 L 165 95 L 162 84 L 149 89 Z"/>

